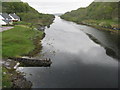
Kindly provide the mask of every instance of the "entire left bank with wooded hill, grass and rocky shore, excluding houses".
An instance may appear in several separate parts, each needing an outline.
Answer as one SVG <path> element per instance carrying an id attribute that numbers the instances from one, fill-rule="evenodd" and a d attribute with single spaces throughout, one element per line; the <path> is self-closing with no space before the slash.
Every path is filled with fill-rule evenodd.
<path id="1" fill-rule="evenodd" d="M 22 8 L 19 6 L 22 6 Z M 4 82 L 3 86 L 5 86 L 3 89 L 31 88 L 31 82 L 27 81 L 22 73 L 16 71 L 17 67 L 19 67 L 19 65 L 17 65 L 19 62 L 16 62 L 9 58 L 36 56 L 42 49 L 41 40 L 45 37 L 45 33 L 40 28 L 44 28 L 46 26 L 49 27 L 53 23 L 54 15 L 40 13 L 28 5 L 28 3 L 24 2 L 17 3 L 17 6 L 14 2 L 3 3 L 2 7 L 4 8 L 3 11 L 5 13 L 16 13 L 16 15 L 21 19 L 19 22 L 13 23 L 15 26 L 11 30 L 4 30 L 5 32 L 0 32 L 3 34 L 3 52 L 1 60 L 2 68 L 4 69 L 2 71 L 4 75 L 2 82 Z M 16 68 L 14 69 L 14 67 Z"/>

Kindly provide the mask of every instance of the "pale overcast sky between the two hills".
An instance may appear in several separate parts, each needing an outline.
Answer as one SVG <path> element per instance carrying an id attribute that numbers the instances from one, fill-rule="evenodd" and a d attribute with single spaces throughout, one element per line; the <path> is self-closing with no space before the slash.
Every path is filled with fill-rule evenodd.
<path id="1" fill-rule="evenodd" d="M 80 7 L 86 7 L 94 0 L 22 0 L 41 13 L 65 13 Z"/>

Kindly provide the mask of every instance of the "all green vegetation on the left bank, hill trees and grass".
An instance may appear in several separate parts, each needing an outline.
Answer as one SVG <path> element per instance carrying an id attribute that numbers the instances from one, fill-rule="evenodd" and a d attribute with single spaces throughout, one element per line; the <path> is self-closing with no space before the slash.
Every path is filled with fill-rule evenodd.
<path id="1" fill-rule="evenodd" d="M 14 22 L 13 29 L 0 32 L 2 57 L 34 56 L 40 52 L 40 40 L 43 38 L 44 32 L 38 31 L 37 28 L 50 26 L 54 20 L 54 15 L 39 13 L 24 2 L 2 2 L 1 6 L 2 13 L 16 13 L 21 19 L 20 22 Z M 10 70 L 6 67 L 2 68 L 2 87 L 13 87 L 11 80 L 14 76 L 9 74 Z"/>

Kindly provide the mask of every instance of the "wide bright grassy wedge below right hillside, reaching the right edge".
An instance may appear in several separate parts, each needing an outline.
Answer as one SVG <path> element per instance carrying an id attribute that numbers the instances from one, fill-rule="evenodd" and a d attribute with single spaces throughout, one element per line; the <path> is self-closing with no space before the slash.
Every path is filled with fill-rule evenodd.
<path id="1" fill-rule="evenodd" d="M 105 30 L 108 32 L 120 34 L 120 30 L 117 30 L 119 27 L 119 22 L 115 22 L 112 20 L 83 20 L 81 23 L 99 30 Z"/>

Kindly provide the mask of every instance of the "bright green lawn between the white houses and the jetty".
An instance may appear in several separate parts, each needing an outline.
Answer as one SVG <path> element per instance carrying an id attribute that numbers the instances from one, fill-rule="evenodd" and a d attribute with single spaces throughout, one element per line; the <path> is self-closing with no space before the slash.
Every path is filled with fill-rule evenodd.
<path id="1" fill-rule="evenodd" d="M 43 32 L 28 27 L 15 26 L 13 29 L 2 32 L 2 56 L 20 57 L 31 52 L 35 45 L 33 38 L 42 38 Z"/>

